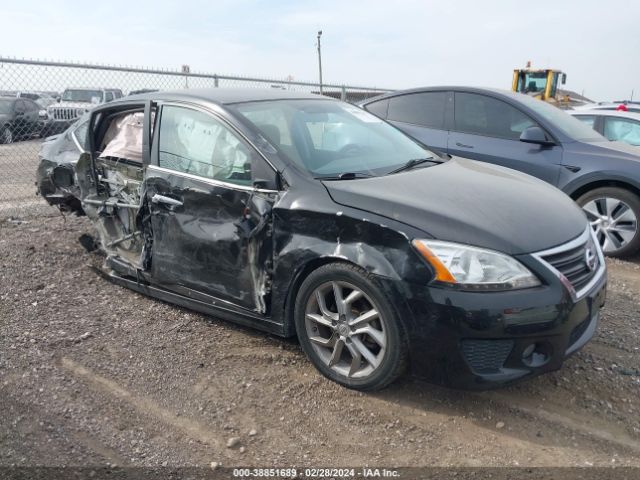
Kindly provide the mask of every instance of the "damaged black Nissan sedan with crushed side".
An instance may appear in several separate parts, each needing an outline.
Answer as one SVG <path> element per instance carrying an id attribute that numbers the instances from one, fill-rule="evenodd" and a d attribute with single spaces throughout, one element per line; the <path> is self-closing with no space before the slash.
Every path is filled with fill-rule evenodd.
<path id="1" fill-rule="evenodd" d="M 41 156 L 41 194 L 91 219 L 106 278 L 297 335 L 350 388 L 407 368 L 462 388 L 556 370 L 604 304 L 602 251 L 562 192 L 326 97 L 131 96 Z"/>

